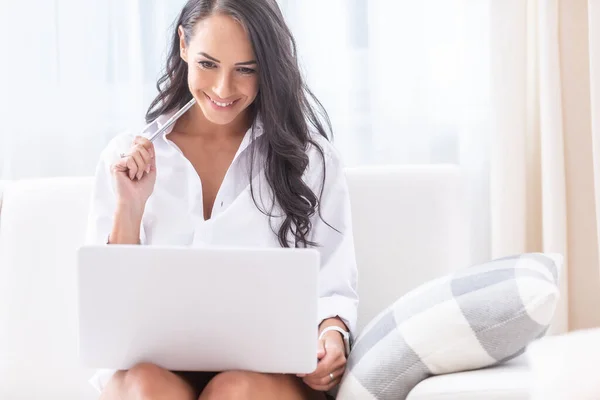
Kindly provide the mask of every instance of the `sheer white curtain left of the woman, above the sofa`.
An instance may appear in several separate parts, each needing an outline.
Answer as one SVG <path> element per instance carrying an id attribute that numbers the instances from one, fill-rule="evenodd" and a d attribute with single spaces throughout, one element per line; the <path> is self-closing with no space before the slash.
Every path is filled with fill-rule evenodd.
<path id="1" fill-rule="evenodd" d="M 183 0 L 0 2 L 0 179 L 90 175 L 143 122 Z"/>

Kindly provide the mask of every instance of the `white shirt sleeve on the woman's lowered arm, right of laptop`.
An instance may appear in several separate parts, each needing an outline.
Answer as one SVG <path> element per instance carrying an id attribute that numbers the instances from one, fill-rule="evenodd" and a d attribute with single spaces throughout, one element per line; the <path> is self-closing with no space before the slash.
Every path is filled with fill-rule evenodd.
<path id="1" fill-rule="evenodd" d="M 352 232 L 350 195 L 341 160 L 336 152 L 323 145 L 325 155 L 325 181 L 323 163 L 315 162 L 311 168 L 315 194 L 319 196 L 320 215 L 313 219 L 312 241 L 317 243 L 321 255 L 319 272 L 319 323 L 340 317 L 354 337 L 356 330 L 358 293 L 357 268 Z M 320 157 L 320 155 L 318 155 Z"/>

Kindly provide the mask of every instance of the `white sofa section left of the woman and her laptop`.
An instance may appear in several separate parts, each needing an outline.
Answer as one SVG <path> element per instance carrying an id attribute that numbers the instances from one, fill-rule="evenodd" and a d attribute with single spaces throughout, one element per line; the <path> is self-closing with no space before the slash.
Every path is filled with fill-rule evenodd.
<path id="1" fill-rule="evenodd" d="M 80 365 L 77 352 L 76 250 L 92 182 L 16 180 L 4 187 L 0 399 L 97 398 L 88 383 L 94 371 Z"/>

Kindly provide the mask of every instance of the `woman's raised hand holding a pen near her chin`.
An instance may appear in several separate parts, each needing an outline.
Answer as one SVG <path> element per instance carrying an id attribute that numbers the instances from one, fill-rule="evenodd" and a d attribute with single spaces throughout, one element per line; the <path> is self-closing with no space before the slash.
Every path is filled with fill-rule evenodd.
<path id="1" fill-rule="evenodd" d="M 129 152 L 111 166 L 116 181 L 117 207 L 143 211 L 156 182 L 154 145 L 137 136 Z"/>

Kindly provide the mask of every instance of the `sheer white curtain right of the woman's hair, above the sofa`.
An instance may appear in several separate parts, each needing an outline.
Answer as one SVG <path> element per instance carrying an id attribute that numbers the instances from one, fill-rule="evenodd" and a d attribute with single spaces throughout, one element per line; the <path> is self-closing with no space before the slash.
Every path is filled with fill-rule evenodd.
<path id="1" fill-rule="evenodd" d="M 490 2 L 280 0 L 349 166 L 458 164 L 489 259 Z"/>

